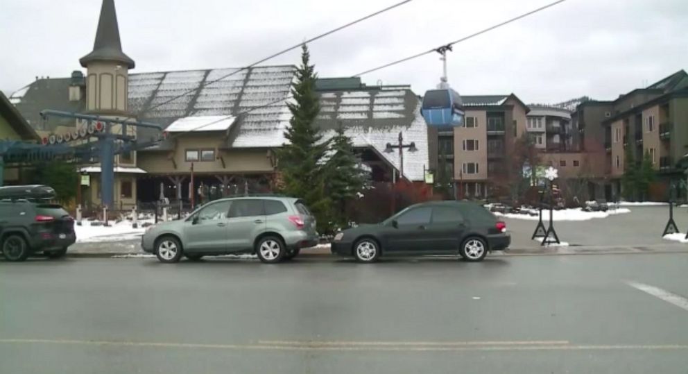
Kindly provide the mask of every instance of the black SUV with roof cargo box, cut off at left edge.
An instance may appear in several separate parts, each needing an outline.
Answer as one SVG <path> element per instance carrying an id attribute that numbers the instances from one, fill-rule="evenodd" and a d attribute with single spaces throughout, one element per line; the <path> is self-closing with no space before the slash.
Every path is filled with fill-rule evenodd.
<path id="1" fill-rule="evenodd" d="M 50 203 L 55 190 L 44 185 L 0 187 L 0 251 L 5 260 L 24 261 L 32 253 L 62 257 L 74 244 L 74 219 Z"/>

